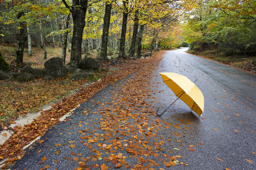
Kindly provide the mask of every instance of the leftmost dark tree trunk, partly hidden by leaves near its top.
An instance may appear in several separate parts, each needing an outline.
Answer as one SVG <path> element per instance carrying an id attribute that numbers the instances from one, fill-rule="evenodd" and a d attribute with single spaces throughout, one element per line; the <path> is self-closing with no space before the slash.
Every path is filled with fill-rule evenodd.
<path id="1" fill-rule="evenodd" d="M 19 12 L 18 14 L 18 19 L 22 17 L 24 13 Z M 26 28 L 27 23 L 26 22 L 20 22 L 20 29 L 19 29 L 19 48 L 18 51 L 16 52 L 16 62 L 22 63 L 23 62 L 23 53 L 24 53 L 24 46 L 27 41 L 27 28 Z"/>

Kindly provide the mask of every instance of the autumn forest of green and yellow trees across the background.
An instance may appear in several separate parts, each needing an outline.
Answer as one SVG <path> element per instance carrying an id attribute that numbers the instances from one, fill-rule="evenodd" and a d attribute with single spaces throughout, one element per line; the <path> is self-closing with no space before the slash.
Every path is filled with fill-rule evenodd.
<path id="1" fill-rule="evenodd" d="M 0 1 L 1 46 L 15 44 L 12 63 L 24 49 L 61 46 L 65 63 L 77 67 L 93 50 L 97 59 L 142 56 L 142 49 L 188 46 L 190 51 L 228 58 L 255 56 L 255 1 Z M 136 56 L 135 56 L 136 54 Z M 9 61 L 11 56 L 3 56 Z M 255 69 L 255 59 L 246 59 Z M 10 63 L 10 62 L 9 62 Z M 253 67 L 253 68 L 251 68 Z"/>

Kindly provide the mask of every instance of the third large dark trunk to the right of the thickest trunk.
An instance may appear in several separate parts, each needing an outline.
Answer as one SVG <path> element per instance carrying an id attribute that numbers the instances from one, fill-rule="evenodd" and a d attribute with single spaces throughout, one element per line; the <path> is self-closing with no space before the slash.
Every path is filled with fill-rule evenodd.
<path id="1" fill-rule="evenodd" d="M 135 57 L 136 39 L 139 27 L 139 10 L 135 11 L 134 25 L 133 25 L 133 39 L 131 40 L 130 54 L 129 57 Z"/>

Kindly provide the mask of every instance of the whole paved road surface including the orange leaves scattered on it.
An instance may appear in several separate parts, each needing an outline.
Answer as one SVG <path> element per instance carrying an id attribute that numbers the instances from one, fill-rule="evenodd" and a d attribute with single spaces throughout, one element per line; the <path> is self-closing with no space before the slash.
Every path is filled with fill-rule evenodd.
<path id="1" fill-rule="evenodd" d="M 129 89 L 134 74 L 98 92 L 12 169 L 256 169 L 255 76 L 185 50 L 167 51 L 144 90 Z M 202 117 L 181 100 L 154 116 L 176 99 L 160 72 L 197 79 Z"/>

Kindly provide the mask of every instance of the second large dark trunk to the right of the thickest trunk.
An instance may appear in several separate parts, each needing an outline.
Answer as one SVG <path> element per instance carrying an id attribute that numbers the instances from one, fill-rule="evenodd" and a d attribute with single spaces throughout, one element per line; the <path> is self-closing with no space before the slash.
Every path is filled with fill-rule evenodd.
<path id="1" fill-rule="evenodd" d="M 126 29 L 127 29 L 127 19 L 128 19 L 128 12 L 127 12 L 127 5 L 129 0 L 123 1 L 123 22 L 122 22 L 122 32 L 120 37 L 120 47 L 119 47 L 119 55 L 118 58 L 126 58 L 125 54 L 125 36 L 126 36 Z"/>

